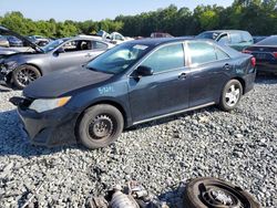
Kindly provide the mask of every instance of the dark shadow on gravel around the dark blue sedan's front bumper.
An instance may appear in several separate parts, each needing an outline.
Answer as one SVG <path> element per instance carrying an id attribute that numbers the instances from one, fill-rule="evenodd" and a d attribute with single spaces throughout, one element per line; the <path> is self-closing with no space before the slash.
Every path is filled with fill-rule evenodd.
<path id="1" fill-rule="evenodd" d="M 18 155 L 22 157 L 51 155 L 69 148 L 79 148 L 79 145 L 59 147 L 35 146 L 29 143 L 28 136 L 22 129 L 22 124 L 16 110 L 0 112 L 0 156 Z"/>

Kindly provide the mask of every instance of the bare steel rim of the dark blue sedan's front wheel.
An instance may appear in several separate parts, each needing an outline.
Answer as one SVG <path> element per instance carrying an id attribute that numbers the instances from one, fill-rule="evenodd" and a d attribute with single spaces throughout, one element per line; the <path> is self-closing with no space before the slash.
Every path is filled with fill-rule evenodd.
<path id="1" fill-rule="evenodd" d="M 89 135 L 93 139 L 109 137 L 113 129 L 113 122 L 107 115 L 99 115 L 89 124 Z"/>

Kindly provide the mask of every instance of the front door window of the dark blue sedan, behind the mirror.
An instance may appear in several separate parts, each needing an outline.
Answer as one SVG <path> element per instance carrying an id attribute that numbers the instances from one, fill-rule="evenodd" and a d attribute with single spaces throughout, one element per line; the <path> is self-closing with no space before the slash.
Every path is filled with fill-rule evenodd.
<path id="1" fill-rule="evenodd" d="M 184 67 L 183 43 L 163 46 L 152 53 L 141 65 L 151 67 L 154 73 Z"/>

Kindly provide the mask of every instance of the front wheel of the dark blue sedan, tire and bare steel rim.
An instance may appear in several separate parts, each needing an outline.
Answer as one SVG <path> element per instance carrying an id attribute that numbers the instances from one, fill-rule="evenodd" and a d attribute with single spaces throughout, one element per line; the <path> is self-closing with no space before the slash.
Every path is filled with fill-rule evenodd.
<path id="1" fill-rule="evenodd" d="M 79 141 L 88 148 L 106 147 L 120 136 L 124 127 L 122 113 L 107 104 L 85 110 L 76 126 Z"/>

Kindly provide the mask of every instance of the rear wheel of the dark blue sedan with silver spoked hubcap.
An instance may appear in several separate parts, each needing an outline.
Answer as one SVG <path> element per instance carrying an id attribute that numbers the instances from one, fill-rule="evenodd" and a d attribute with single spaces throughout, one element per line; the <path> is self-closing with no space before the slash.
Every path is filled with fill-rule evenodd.
<path id="1" fill-rule="evenodd" d="M 240 82 L 238 80 L 230 80 L 223 89 L 219 101 L 219 107 L 226 112 L 236 108 L 237 104 L 242 98 L 242 95 L 243 95 L 243 86 Z"/>

